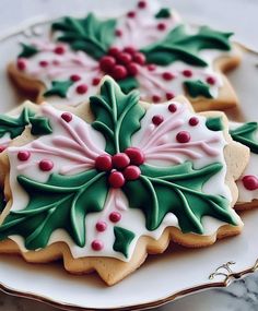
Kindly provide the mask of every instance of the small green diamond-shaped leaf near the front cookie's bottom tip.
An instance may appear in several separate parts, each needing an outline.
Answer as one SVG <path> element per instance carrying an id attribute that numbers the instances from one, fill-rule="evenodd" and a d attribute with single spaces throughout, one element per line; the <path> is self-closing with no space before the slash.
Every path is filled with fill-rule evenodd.
<path id="1" fill-rule="evenodd" d="M 131 241 L 134 239 L 136 235 L 121 227 L 114 227 L 115 242 L 113 246 L 114 251 L 122 253 L 128 258 L 129 247 Z"/>

